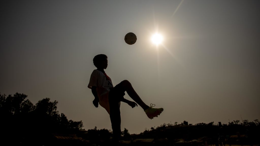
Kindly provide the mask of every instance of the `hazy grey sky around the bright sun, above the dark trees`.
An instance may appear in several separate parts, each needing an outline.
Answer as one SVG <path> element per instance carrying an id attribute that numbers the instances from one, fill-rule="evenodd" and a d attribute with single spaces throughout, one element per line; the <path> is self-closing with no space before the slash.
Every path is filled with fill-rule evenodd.
<path id="1" fill-rule="evenodd" d="M 260 120 L 260 1 L 2 1 L 0 92 L 23 93 L 84 129 L 112 129 L 87 88 L 93 57 L 108 56 L 114 85 L 127 79 L 150 120 L 121 103 L 121 130 L 139 134 L 164 123 Z M 124 37 L 137 36 L 133 45 Z M 163 41 L 151 42 L 159 33 Z M 132 99 L 126 94 L 125 98 Z"/>

